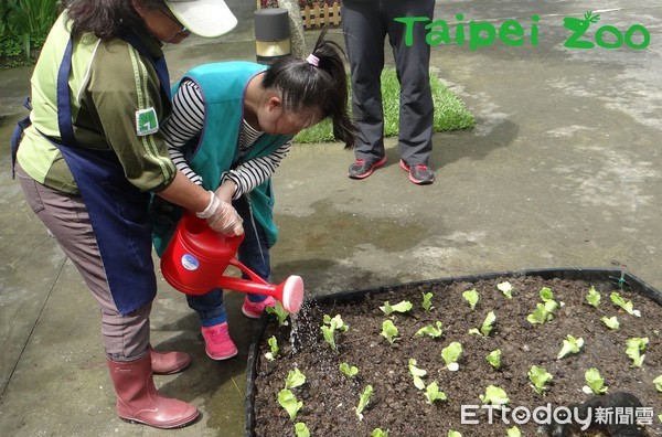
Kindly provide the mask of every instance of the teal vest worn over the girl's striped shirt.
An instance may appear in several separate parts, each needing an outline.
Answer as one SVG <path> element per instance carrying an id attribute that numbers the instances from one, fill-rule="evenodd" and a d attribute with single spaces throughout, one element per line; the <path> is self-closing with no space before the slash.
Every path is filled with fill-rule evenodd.
<path id="1" fill-rule="evenodd" d="M 191 169 L 203 179 L 206 190 L 216 190 L 223 172 L 253 158 L 265 157 L 277 150 L 291 137 L 285 135 L 263 135 L 250 148 L 239 156 L 239 132 L 244 118 L 244 97 L 248 82 L 266 66 L 252 62 L 224 62 L 205 64 L 189 71 L 182 79 L 193 81 L 200 87 L 204 99 L 204 126 L 197 143 L 188 146 L 184 156 Z M 180 81 L 181 83 L 181 81 Z M 173 87 L 173 94 L 180 83 Z M 276 243 L 278 231 L 273 218 L 274 193 L 271 181 L 267 180 L 250 192 L 253 216 L 263 226 L 270 246 Z M 174 232 L 154 232 L 154 247 L 160 255 Z M 160 234 L 160 235 L 159 235 Z"/>

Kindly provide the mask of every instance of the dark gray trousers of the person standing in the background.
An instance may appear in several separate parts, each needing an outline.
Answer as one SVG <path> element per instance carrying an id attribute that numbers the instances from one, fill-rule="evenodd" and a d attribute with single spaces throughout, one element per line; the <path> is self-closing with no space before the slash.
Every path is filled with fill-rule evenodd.
<path id="1" fill-rule="evenodd" d="M 433 149 L 434 104 L 429 86 L 430 46 L 425 24 L 414 25 L 414 44 L 405 45 L 401 17 L 433 19 L 435 0 L 343 0 L 342 29 L 352 74 L 352 110 L 359 136 L 357 159 L 384 157 L 384 116 L 380 76 L 384 39 L 393 49 L 401 83 L 398 151 L 408 164 L 428 163 Z"/>

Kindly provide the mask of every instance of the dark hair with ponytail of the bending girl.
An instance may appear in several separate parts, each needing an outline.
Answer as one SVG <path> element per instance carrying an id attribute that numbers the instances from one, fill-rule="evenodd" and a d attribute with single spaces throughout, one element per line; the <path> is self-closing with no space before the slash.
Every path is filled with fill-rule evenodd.
<path id="1" fill-rule="evenodd" d="M 319 107 L 323 118 L 331 118 L 333 137 L 354 147 L 355 126 L 348 114 L 348 75 L 344 51 L 333 41 L 324 39 L 327 30 L 318 38 L 312 55 L 318 65 L 307 60 L 286 57 L 267 70 L 263 86 L 277 88 L 287 111 L 303 111 Z"/>

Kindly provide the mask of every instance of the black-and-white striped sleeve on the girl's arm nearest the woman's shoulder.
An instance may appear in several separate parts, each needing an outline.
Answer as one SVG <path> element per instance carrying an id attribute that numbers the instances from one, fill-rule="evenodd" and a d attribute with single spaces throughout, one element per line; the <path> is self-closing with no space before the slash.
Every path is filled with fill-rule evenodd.
<path id="1" fill-rule="evenodd" d="M 204 100 L 200 87 L 193 81 L 183 81 L 172 98 L 172 115 L 163 126 L 163 137 L 178 170 L 199 185 L 202 185 L 202 177 L 191 169 L 182 148 L 200 135 L 203 124 Z"/>

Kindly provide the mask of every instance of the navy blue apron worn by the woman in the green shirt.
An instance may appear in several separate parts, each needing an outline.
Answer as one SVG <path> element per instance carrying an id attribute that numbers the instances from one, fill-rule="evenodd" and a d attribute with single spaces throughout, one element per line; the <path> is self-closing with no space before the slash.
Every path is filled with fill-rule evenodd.
<path id="1" fill-rule="evenodd" d="M 137 38 L 131 35 L 125 40 L 141 54 L 148 54 Z M 151 224 L 147 214 L 150 194 L 141 192 L 127 180 L 113 150 L 89 150 L 77 146 L 68 92 L 72 49 L 70 39 L 57 73 L 57 125 L 62 141 L 50 140 L 62 152 L 81 191 L 113 300 L 117 310 L 126 316 L 151 302 L 157 294 Z M 161 87 L 170 98 L 164 58 L 147 57 L 157 70 Z M 17 149 L 18 143 L 14 146 L 12 139 L 13 157 Z"/>

